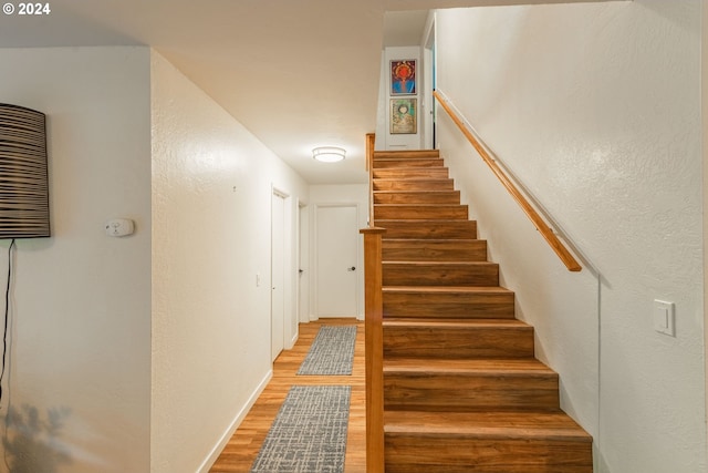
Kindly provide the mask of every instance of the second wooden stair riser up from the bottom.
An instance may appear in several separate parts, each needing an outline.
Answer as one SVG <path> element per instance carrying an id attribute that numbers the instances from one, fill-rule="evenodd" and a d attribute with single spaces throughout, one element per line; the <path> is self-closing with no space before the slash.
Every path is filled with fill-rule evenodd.
<path id="1" fill-rule="evenodd" d="M 385 409 L 428 411 L 554 411 L 556 374 L 389 372 L 384 370 Z"/>

